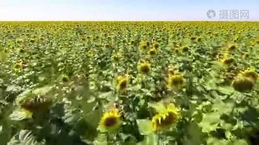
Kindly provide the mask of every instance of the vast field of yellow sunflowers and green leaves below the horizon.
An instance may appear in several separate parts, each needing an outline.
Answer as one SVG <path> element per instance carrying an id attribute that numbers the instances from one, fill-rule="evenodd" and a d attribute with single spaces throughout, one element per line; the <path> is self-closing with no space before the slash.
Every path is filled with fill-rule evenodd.
<path id="1" fill-rule="evenodd" d="M 259 22 L 0 22 L 0 145 L 259 145 Z"/>

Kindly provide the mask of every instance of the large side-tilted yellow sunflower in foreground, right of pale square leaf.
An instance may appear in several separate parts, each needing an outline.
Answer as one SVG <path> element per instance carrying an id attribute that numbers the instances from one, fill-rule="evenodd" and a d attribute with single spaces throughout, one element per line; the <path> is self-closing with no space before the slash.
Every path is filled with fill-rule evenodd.
<path id="1" fill-rule="evenodd" d="M 175 125 L 180 118 L 179 109 L 174 104 L 169 104 L 166 109 L 152 117 L 154 131 L 164 131 Z"/>

